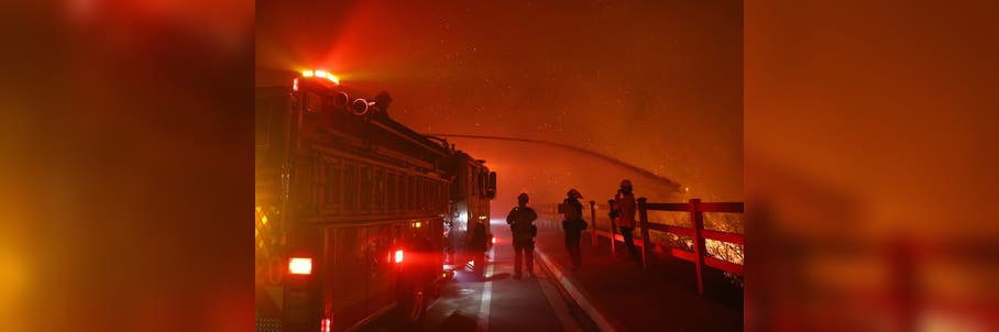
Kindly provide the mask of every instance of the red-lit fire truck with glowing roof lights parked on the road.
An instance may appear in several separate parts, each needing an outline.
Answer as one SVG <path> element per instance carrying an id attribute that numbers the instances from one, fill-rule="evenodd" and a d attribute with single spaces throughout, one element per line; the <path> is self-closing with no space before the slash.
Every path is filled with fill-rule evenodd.
<path id="1" fill-rule="evenodd" d="M 484 161 L 351 93 L 323 70 L 256 89 L 256 331 L 418 322 L 470 223 L 488 230 Z"/>

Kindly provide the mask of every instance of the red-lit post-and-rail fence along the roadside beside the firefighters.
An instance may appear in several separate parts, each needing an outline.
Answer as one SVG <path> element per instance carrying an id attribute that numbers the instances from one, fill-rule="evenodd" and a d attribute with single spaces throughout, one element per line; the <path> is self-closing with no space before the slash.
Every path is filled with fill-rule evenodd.
<path id="1" fill-rule="evenodd" d="M 612 239 L 611 241 L 611 252 L 616 254 L 617 242 L 624 242 L 624 237 L 617 233 L 617 225 L 614 220 L 610 220 L 610 226 L 607 231 L 601 230 L 597 226 L 596 210 L 606 210 L 608 206 L 596 204 L 595 201 L 590 201 L 590 222 L 591 222 L 591 240 L 592 244 L 595 246 L 597 237 L 604 236 Z M 661 223 L 649 222 L 648 211 L 673 211 L 673 212 L 688 212 L 690 213 L 691 226 L 678 226 L 678 225 L 668 225 Z M 645 268 L 649 267 L 652 257 L 652 244 L 651 239 L 649 237 L 649 231 L 656 230 L 666 233 L 673 233 L 677 235 L 687 235 L 690 236 L 693 241 L 693 252 L 688 252 L 679 247 L 667 246 L 663 247 L 663 253 L 667 256 L 677 257 L 684 259 L 694 264 L 696 274 L 698 274 L 698 292 L 704 294 L 704 278 L 703 278 L 703 268 L 704 266 L 710 266 L 717 268 L 724 272 L 728 272 L 736 275 L 743 275 L 743 265 L 731 263 L 724 259 L 718 259 L 712 257 L 707 254 L 705 247 L 706 240 L 715 240 L 721 242 L 734 243 L 739 245 L 745 245 L 745 237 L 743 234 L 721 232 L 714 230 L 704 229 L 704 212 L 728 212 L 728 213 L 743 213 L 743 203 L 742 202 L 702 202 L 701 199 L 691 199 L 685 203 L 650 203 L 646 198 L 638 199 L 638 226 L 640 231 L 640 239 L 634 239 L 635 246 L 641 247 L 641 265 Z M 649 245 L 646 245 L 649 244 Z"/>

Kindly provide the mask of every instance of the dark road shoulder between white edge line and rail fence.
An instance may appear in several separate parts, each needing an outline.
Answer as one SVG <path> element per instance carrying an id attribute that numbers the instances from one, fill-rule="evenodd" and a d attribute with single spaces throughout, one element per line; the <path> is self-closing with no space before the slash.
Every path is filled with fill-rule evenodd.
<path id="1" fill-rule="evenodd" d="M 589 230 L 580 245 L 582 267 L 573 272 L 560 223 L 537 223 L 538 251 L 602 331 L 743 330 L 743 290 L 721 272 L 705 270 L 709 291 L 701 296 L 693 263 L 659 257 L 646 269 L 627 257 L 621 242 L 616 255 L 606 237 L 593 246 Z"/>

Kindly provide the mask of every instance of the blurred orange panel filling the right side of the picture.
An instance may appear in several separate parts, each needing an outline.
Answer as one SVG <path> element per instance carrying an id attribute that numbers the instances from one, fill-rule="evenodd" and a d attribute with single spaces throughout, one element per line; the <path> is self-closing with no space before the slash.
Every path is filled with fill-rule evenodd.
<path id="1" fill-rule="evenodd" d="M 746 327 L 995 331 L 986 1 L 746 3 Z"/>

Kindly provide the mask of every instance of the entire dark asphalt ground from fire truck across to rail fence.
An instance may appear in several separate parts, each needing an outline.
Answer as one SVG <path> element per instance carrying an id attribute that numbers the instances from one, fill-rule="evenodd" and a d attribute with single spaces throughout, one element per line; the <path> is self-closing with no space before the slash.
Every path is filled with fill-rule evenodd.
<path id="1" fill-rule="evenodd" d="M 610 241 L 581 245 L 583 265 L 571 269 L 560 222 L 541 219 L 536 237 L 536 277 L 513 278 L 509 228 L 492 221 L 496 244 L 486 258 L 485 280 L 459 270 L 443 286 L 420 327 L 391 321 L 369 331 L 742 331 L 742 288 L 720 272 L 706 272 L 705 295 L 698 295 L 692 263 L 657 259 L 649 268 L 613 255 Z M 623 247 L 623 244 L 619 248 Z"/>

